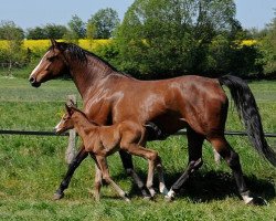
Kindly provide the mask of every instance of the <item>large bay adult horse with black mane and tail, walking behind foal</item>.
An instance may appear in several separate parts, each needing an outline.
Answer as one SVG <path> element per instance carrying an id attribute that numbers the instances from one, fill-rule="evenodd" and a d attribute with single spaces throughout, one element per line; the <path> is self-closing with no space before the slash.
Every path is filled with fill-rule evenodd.
<path id="1" fill-rule="evenodd" d="M 276 154 L 264 138 L 261 116 L 248 85 L 238 77 L 226 75 L 208 78 L 194 75 L 160 81 L 138 81 L 117 72 L 112 65 L 71 43 L 52 40 L 52 46 L 43 55 L 30 75 L 32 86 L 70 74 L 83 98 L 84 113 L 99 125 L 123 120 L 145 125 L 152 122 L 164 135 L 187 128 L 189 162 L 182 176 L 172 185 L 169 198 L 199 169 L 202 161 L 202 144 L 206 139 L 232 169 L 237 189 L 245 203 L 254 202 L 244 181 L 238 155 L 224 137 L 229 101 L 222 85 L 230 88 L 238 114 L 244 120 L 253 147 L 276 166 Z M 131 155 L 120 150 L 127 173 L 131 176 L 144 196 L 144 182 L 134 170 Z M 67 173 L 55 192 L 64 196 L 75 169 L 87 157 L 84 146 L 70 165 Z"/>

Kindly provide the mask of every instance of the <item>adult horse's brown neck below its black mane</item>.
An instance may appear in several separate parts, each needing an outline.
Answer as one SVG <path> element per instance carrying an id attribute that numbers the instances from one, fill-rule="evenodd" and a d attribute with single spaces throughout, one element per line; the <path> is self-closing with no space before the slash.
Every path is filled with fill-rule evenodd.
<path id="1" fill-rule="evenodd" d="M 96 93 L 107 76 L 115 72 L 99 59 L 93 55 L 86 55 L 86 57 L 87 62 L 73 61 L 70 66 L 71 75 L 83 101 L 91 96 L 93 91 Z"/>

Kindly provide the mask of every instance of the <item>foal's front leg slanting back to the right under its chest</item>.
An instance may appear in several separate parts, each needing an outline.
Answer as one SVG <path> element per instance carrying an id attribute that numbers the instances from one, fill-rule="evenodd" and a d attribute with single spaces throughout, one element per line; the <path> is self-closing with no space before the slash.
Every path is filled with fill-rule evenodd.
<path id="1" fill-rule="evenodd" d="M 106 161 L 106 157 L 103 156 L 95 156 L 97 164 L 103 172 L 103 178 L 104 180 L 108 183 L 112 185 L 112 187 L 118 192 L 118 194 L 125 199 L 126 201 L 129 201 L 129 199 L 126 197 L 126 192 L 120 189 L 120 187 L 118 185 L 115 183 L 115 181 L 112 179 L 110 175 L 109 175 L 109 170 L 108 170 L 108 166 L 107 166 L 107 161 Z"/>

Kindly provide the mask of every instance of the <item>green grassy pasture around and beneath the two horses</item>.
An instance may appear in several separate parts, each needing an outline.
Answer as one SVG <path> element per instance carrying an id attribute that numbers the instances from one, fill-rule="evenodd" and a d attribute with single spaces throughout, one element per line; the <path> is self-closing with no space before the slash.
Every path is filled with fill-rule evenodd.
<path id="1" fill-rule="evenodd" d="M 276 82 L 254 82 L 265 131 L 276 131 Z M 33 88 L 23 78 L 0 78 L 0 128 L 52 130 L 64 109 L 66 95 L 77 93 L 71 81 L 51 81 Z M 81 98 L 78 97 L 79 106 Z M 233 106 L 233 104 L 232 104 Z M 234 107 L 230 107 L 227 130 L 242 130 Z M 276 169 L 262 159 L 246 137 L 227 137 L 240 154 L 250 188 L 268 201 L 267 207 L 245 206 L 237 197 L 235 182 L 224 162 L 215 165 L 212 149 L 204 143 L 204 165 L 168 203 L 158 194 L 144 201 L 126 177 L 117 154 L 110 156 L 113 178 L 129 192 L 131 203 L 118 199 L 109 188 L 102 190 L 96 203 L 89 194 L 94 162 L 86 159 L 76 170 L 65 198 L 52 196 L 66 171 L 66 137 L 0 135 L 0 220 L 276 220 Z M 276 139 L 268 143 L 276 147 Z M 187 165 L 187 139 L 171 136 L 152 141 L 166 168 L 168 187 Z M 146 179 L 147 162 L 135 157 L 135 167 Z M 157 183 L 157 182 L 156 182 Z"/>

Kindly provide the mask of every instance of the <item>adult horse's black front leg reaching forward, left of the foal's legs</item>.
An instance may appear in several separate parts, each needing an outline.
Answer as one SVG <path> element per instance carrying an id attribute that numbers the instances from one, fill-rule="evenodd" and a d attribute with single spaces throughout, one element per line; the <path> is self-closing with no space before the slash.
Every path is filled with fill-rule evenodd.
<path id="1" fill-rule="evenodd" d="M 68 170 L 67 170 L 65 177 L 63 178 L 59 189 L 54 193 L 54 200 L 60 200 L 60 199 L 62 199 L 64 197 L 64 190 L 67 189 L 67 187 L 70 185 L 70 181 L 71 181 L 71 178 L 73 177 L 76 168 L 87 157 L 87 155 L 88 154 L 85 151 L 84 145 L 82 145 L 79 151 L 74 157 L 72 162 L 68 165 Z"/>

